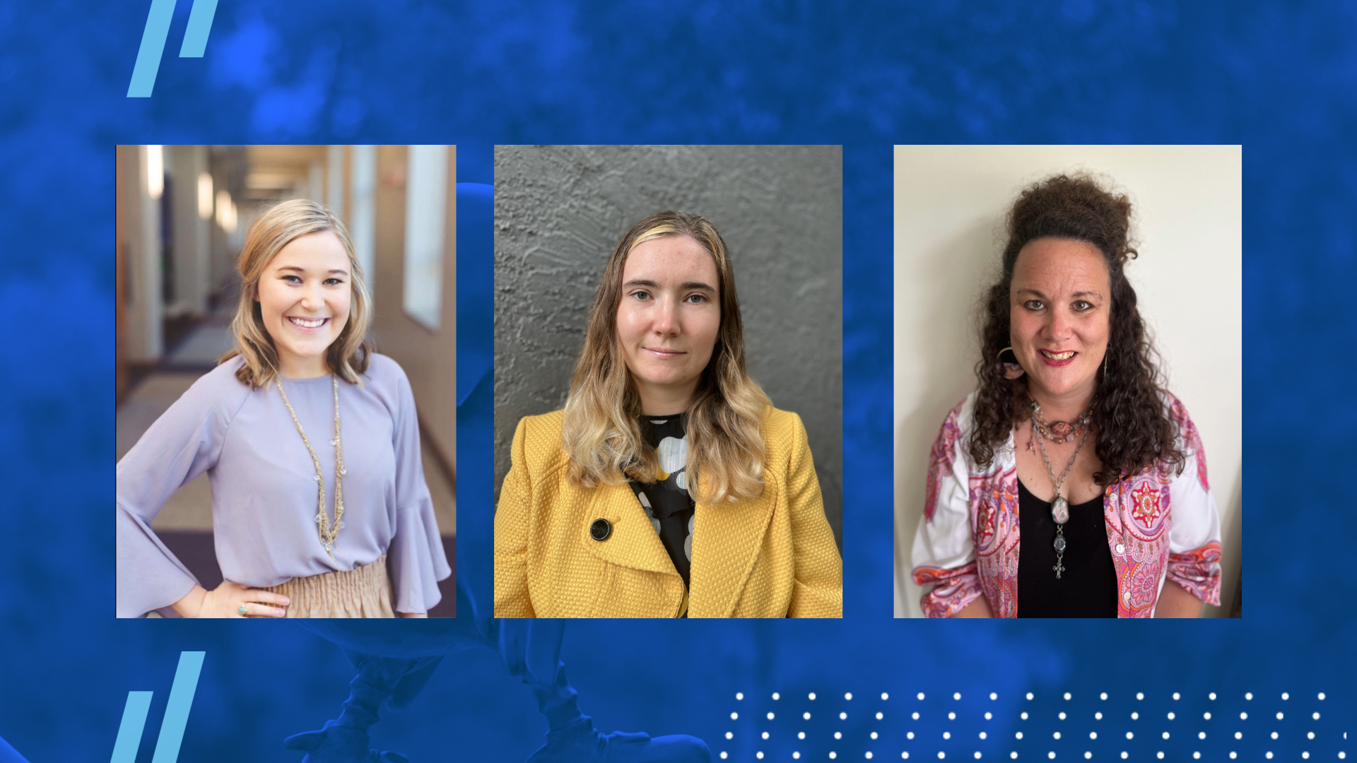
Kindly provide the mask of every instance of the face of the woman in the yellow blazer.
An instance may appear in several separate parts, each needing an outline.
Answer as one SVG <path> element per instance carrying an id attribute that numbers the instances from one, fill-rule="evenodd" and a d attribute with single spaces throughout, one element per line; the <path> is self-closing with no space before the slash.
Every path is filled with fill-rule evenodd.
<path id="1" fill-rule="evenodd" d="M 617 341 L 642 411 L 688 409 L 721 333 L 716 263 L 691 236 L 650 239 L 627 255 Z"/>

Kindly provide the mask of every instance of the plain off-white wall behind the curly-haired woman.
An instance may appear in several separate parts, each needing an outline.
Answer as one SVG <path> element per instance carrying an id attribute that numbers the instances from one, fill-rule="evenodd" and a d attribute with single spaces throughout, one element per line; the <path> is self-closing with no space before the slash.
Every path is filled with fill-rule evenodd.
<path id="1" fill-rule="evenodd" d="M 1228 614 L 1240 553 L 1240 147 L 896 147 L 896 616 L 921 616 L 909 558 L 928 448 L 976 384 L 976 305 L 997 274 L 1004 213 L 1056 172 L 1110 178 L 1133 204 L 1126 274 L 1168 388 L 1201 430 L 1224 540 Z"/>

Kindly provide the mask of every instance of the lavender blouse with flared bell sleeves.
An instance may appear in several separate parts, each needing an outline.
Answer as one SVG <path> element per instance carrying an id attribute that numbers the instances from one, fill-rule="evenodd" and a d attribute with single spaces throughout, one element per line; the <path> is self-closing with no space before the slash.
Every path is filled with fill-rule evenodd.
<path id="1" fill-rule="evenodd" d="M 278 394 L 251 390 L 232 358 L 198 379 L 118 462 L 119 618 L 171 604 L 197 578 L 166 548 L 151 520 L 179 486 L 204 471 L 221 574 L 242 585 L 278 585 L 388 555 L 398 612 L 427 612 L 452 574 L 419 459 L 410 382 L 396 361 L 373 354 L 364 384 L 339 382 L 343 437 L 343 528 L 334 561 L 316 525 L 315 466 Z M 326 481 L 334 519 L 334 395 L 330 376 L 284 379 Z"/>

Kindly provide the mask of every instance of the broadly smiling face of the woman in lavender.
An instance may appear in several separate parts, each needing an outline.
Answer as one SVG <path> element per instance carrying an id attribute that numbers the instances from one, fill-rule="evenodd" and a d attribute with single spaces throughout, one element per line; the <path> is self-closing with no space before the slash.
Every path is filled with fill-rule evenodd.
<path id="1" fill-rule="evenodd" d="M 308 234 L 278 250 L 259 277 L 255 301 L 284 376 L 330 372 L 326 350 L 349 322 L 351 289 L 349 254 L 334 232 Z"/>

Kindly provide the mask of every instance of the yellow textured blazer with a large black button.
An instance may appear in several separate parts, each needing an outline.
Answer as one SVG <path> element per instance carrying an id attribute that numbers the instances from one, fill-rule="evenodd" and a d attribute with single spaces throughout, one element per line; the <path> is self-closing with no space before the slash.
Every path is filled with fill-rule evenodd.
<path id="1" fill-rule="evenodd" d="M 567 479 L 562 411 L 529 415 L 495 510 L 497 618 L 841 618 L 843 562 L 806 429 L 772 410 L 763 494 L 696 505 L 691 593 L 631 486 Z M 612 534 L 594 540 L 605 519 Z M 685 601 L 687 596 L 687 601 Z"/>

